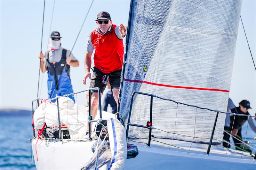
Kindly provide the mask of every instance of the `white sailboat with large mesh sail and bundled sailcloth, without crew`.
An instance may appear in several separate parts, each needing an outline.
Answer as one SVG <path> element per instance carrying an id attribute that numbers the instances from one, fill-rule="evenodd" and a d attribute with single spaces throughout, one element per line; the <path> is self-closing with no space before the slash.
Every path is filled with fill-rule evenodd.
<path id="1" fill-rule="evenodd" d="M 45 140 L 41 124 L 36 168 L 255 169 L 255 156 L 221 145 L 240 10 L 241 1 L 132 0 L 118 112 L 91 120 L 90 105 L 68 95 L 43 101 L 37 112 L 54 115 L 46 126 L 59 138 Z M 96 125 L 89 139 L 85 121 Z"/>

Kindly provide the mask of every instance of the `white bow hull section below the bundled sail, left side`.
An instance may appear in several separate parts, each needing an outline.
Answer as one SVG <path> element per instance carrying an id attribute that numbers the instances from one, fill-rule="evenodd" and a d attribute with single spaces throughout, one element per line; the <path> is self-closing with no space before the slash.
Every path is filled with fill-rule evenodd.
<path id="1" fill-rule="evenodd" d="M 48 143 L 45 140 L 39 140 L 36 146 L 36 140 L 32 141 L 36 169 L 81 169 L 93 154 L 91 146 L 94 142 L 62 143 L 59 141 Z M 38 160 L 36 159 L 36 150 Z"/>

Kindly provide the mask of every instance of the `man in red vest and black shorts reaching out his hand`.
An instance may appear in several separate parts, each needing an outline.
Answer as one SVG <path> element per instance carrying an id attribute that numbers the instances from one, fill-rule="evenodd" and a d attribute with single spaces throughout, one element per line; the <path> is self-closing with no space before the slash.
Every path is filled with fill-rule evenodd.
<path id="1" fill-rule="evenodd" d="M 121 24 L 116 26 L 112 24 L 108 12 L 101 11 L 96 19 L 97 28 L 93 30 L 87 43 L 87 50 L 84 55 L 84 80 L 90 78 L 90 88 L 99 87 L 101 95 L 109 81 L 116 103 L 118 101 L 118 91 L 120 87 L 121 71 L 123 67 L 124 44 L 123 37 L 126 35 L 126 28 Z M 91 76 L 90 69 L 92 64 L 92 52 L 94 52 L 94 67 Z M 96 91 L 92 92 L 92 118 L 97 114 L 99 97 Z"/>

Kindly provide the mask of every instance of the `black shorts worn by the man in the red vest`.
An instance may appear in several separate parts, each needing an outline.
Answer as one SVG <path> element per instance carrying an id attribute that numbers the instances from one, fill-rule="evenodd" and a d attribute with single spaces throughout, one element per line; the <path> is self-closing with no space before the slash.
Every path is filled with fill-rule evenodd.
<path id="1" fill-rule="evenodd" d="M 93 67 L 92 72 L 93 73 L 92 73 L 92 80 L 90 83 L 90 88 L 99 87 L 100 92 L 103 93 L 107 84 L 104 84 L 102 82 L 102 77 L 105 75 L 108 75 L 109 76 L 109 84 L 111 86 L 111 89 L 116 89 L 116 88 L 119 89 L 122 69 L 105 74 L 105 73 L 101 72 L 99 69 L 97 69 L 96 67 Z M 97 92 L 97 90 L 93 90 L 92 92 Z"/>

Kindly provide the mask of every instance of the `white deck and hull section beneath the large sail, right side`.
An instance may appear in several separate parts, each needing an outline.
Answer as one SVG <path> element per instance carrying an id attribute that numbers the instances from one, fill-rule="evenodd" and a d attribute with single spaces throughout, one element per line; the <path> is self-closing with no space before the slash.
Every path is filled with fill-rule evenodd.
<path id="1" fill-rule="evenodd" d="M 147 139 L 130 140 L 135 144 L 139 155 L 127 159 L 125 169 L 253 169 L 256 160 L 245 153 L 224 149 L 221 145 L 212 145 L 209 155 L 206 154 L 208 144 L 197 144 L 171 139 L 152 138 L 150 147 Z M 167 145 L 171 143 L 172 145 Z M 164 144 L 165 143 L 165 144 Z M 176 146 L 176 147 L 174 147 Z M 189 150 L 190 149 L 190 150 Z M 242 156 L 242 158 L 241 158 Z M 138 161 L 136 161 L 138 160 Z"/>

